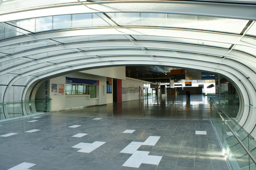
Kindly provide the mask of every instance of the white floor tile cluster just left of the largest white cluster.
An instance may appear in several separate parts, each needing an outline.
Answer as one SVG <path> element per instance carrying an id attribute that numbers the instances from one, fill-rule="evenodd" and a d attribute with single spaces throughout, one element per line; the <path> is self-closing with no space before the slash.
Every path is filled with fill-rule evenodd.
<path id="1" fill-rule="evenodd" d="M 81 142 L 73 146 L 73 148 L 79 148 L 80 150 L 78 150 L 77 152 L 90 153 L 91 151 L 97 149 L 98 147 L 100 147 L 102 144 L 105 144 L 105 143 L 106 142 L 99 142 L 99 141 L 96 141 L 93 143 Z"/>

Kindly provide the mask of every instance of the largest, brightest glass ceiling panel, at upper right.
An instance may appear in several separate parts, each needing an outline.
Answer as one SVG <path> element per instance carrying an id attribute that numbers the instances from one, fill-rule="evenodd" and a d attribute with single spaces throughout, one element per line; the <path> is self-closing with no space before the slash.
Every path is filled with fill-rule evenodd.
<path id="1" fill-rule="evenodd" d="M 240 34 L 248 20 L 153 13 L 107 13 L 120 26 L 163 26 Z"/>

